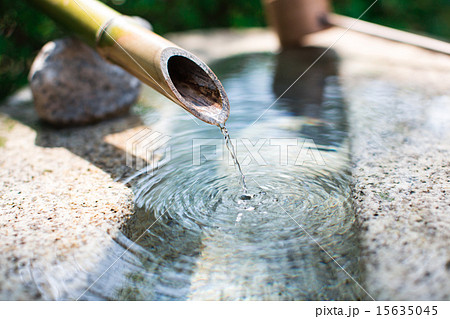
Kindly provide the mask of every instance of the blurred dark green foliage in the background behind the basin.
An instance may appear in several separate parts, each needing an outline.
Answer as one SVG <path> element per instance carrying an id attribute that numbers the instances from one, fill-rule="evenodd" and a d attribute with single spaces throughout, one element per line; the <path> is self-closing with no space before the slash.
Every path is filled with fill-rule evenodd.
<path id="1" fill-rule="evenodd" d="M 261 0 L 103 0 L 144 17 L 157 33 L 199 28 L 265 25 Z M 371 0 L 335 0 L 338 13 L 358 17 Z M 449 0 L 379 0 L 364 20 L 450 38 Z M 0 0 L 0 99 L 26 84 L 33 57 L 46 42 L 64 35 L 25 0 Z"/>

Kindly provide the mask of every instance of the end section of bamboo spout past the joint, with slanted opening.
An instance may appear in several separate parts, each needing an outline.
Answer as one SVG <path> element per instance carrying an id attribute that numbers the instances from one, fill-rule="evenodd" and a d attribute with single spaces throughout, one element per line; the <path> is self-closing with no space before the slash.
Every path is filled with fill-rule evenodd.
<path id="1" fill-rule="evenodd" d="M 127 16 L 114 17 L 97 35 L 97 51 L 200 120 L 223 125 L 230 105 L 211 69 Z"/>

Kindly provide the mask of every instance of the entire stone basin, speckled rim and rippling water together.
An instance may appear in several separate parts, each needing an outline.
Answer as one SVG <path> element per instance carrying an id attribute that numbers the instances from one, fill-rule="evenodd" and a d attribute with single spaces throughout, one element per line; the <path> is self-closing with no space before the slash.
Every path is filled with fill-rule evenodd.
<path id="1" fill-rule="evenodd" d="M 447 56 L 348 32 L 251 125 L 305 69 L 300 61 L 342 32 L 284 55 L 265 30 L 172 35 L 216 61 L 239 157 L 243 140 L 267 140 L 269 165 L 244 166 L 250 201 L 238 199 L 227 161 L 181 169 L 192 163 L 188 142 L 219 131 L 147 92 L 137 116 L 60 131 L 35 120 L 26 91 L 10 99 L 2 299 L 448 299 Z M 227 58 L 255 51 L 272 53 Z M 125 163 L 127 139 L 145 128 L 173 143 L 173 163 L 154 174 Z M 301 139 L 326 165 L 282 165 L 271 138 Z"/>

